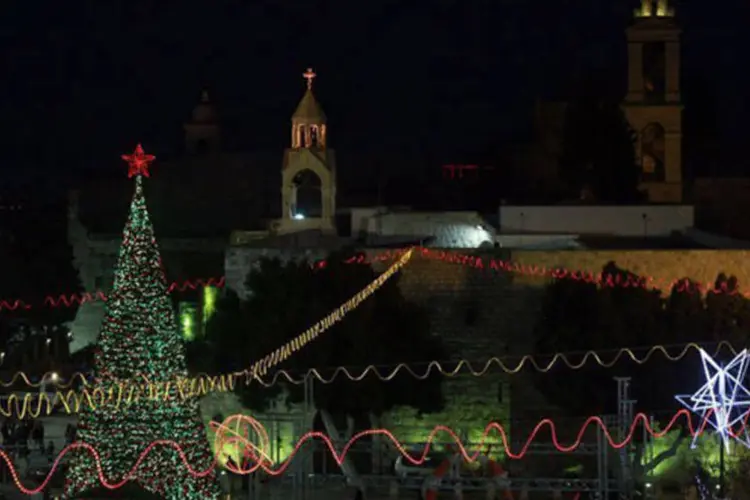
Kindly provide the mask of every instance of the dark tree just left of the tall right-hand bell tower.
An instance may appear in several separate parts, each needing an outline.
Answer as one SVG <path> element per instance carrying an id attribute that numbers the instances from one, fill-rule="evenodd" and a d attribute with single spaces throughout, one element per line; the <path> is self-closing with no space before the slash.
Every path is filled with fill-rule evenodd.
<path id="1" fill-rule="evenodd" d="M 578 197 L 590 190 L 598 203 L 641 201 L 635 138 L 617 104 L 581 99 L 571 105 L 560 159 L 560 174 L 570 195 Z"/>

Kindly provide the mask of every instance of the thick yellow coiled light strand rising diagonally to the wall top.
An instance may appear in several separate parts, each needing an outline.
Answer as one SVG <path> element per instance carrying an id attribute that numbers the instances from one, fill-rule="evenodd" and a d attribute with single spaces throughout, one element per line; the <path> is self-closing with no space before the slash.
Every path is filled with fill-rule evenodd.
<path id="1" fill-rule="evenodd" d="M 26 416 L 37 418 L 42 414 L 51 414 L 53 408 L 57 405 L 62 405 L 64 412 L 72 414 L 78 413 L 83 406 L 94 409 L 104 404 L 114 404 L 115 408 L 120 408 L 122 405 L 128 405 L 141 399 L 187 399 L 203 396 L 209 392 L 232 391 L 238 378 L 244 378 L 245 383 L 250 383 L 254 378 L 262 377 L 268 370 L 289 358 L 334 324 L 344 319 L 348 313 L 356 309 L 383 286 L 388 279 L 401 270 L 409 262 L 411 255 L 411 252 L 402 255 L 384 273 L 322 320 L 240 372 L 208 377 L 178 378 L 169 382 L 156 383 L 141 376 L 143 381 L 114 381 L 105 386 L 84 387 L 80 393 L 74 390 L 57 391 L 52 399 L 44 392 L 25 394 L 23 398 L 11 394 L 5 404 L 0 405 L 0 414 L 6 417 L 17 415 L 18 418 Z M 28 377 L 25 375 L 23 378 L 28 381 Z M 35 403 L 36 407 L 34 408 Z"/>

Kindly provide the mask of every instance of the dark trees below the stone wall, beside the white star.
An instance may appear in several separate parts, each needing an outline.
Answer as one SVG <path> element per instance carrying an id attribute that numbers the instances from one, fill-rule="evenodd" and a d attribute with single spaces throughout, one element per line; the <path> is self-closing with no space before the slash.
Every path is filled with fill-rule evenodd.
<path id="1" fill-rule="evenodd" d="M 736 345 L 747 341 L 750 304 L 739 294 L 708 293 L 704 300 L 688 280 L 677 283 L 668 297 L 640 286 L 617 286 L 616 283 L 636 284 L 644 280 L 613 263 L 604 267 L 602 279 L 604 286 L 569 279 L 548 285 L 535 330 L 537 355 L 549 359 L 555 352 L 595 350 L 609 351 L 602 357 L 610 360 L 623 347 L 688 342 L 709 347 L 730 338 L 741 342 Z M 738 285 L 736 279 L 720 276 L 717 287 L 731 292 Z M 641 356 L 643 352 L 641 349 Z M 581 356 L 574 356 L 572 361 L 580 359 Z M 558 364 L 549 373 L 538 374 L 536 381 L 551 403 L 573 415 L 588 416 L 615 413 L 617 393 L 613 377 L 631 377 L 632 396 L 637 401 L 635 411 L 668 420 L 679 409 L 674 395 L 702 384 L 702 375 L 698 376 L 702 374 L 700 366 L 697 351 L 691 351 L 679 365 L 656 354 L 643 364 L 623 358 L 611 368 L 589 362 L 580 370 L 572 370 Z M 686 384 L 686 378 L 691 385 Z M 674 456 L 685 437 L 683 434 L 675 439 L 674 446 L 662 450 L 656 460 L 643 464 L 637 472 L 648 472 Z M 642 447 L 636 450 L 640 452 Z M 641 462 L 636 460 L 636 463 Z"/>

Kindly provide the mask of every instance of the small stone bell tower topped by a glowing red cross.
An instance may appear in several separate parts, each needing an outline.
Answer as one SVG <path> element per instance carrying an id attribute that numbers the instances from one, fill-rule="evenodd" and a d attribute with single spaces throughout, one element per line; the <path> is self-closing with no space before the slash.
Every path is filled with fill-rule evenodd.
<path id="1" fill-rule="evenodd" d="M 335 233 L 336 156 L 328 147 L 326 115 L 313 94 L 312 69 L 302 75 L 307 90 L 292 115 L 291 147 L 284 151 L 281 170 L 281 219 L 276 224 L 280 233 L 319 230 Z M 314 178 L 319 189 L 320 209 L 305 213 L 298 206 L 298 194 L 305 178 Z M 317 187 L 319 186 L 319 188 Z"/>

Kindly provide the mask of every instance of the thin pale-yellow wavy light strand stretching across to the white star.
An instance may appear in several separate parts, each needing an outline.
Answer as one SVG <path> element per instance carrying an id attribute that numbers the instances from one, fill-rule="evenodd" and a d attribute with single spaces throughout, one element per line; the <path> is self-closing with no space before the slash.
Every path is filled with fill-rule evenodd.
<path id="1" fill-rule="evenodd" d="M 679 349 L 677 354 L 670 354 L 669 349 Z M 393 380 L 399 373 L 406 372 L 415 379 L 418 380 L 425 380 L 427 377 L 429 377 L 433 372 L 440 373 L 446 377 L 456 377 L 459 375 L 468 374 L 473 377 L 483 377 L 487 373 L 490 372 L 495 366 L 502 370 L 503 372 L 514 375 L 521 370 L 523 370 L 526 367 L 531 367 L 534 370 L 540 372 L 540 373 L 547 373 L 549 372 L 555 365 L 558 363 L 563 363 L 566 367 L 568 367 L 571 370 L 580 370 L 585 365 L 589 364 L 590 362 L 594 362 L 598 364 L 599 366 L 603 368 L 612 368 L 614 365 L 616 365 L 618 362 L 620 362 L 623 358 L 630 359 L 632 362 L 642 365 L 644 363 L 647 363 L 655 354 L 660 353 L 662 354 L 668 361 L 670 362 L 677 362 L 685 358 L 691 351 L 700 351 L 702 347 L 695 343 L 690 342 L 686 344 L 672 344 L 672 345 L 653 345 L 650 347 L 623 347 L 620 349 L 601 349 L 601 350 L 590 350 L 590 351 L 570 351 L 570 352 L 557 352 L 555 354 L 549 354 L 547 356 L 543 356 L 545 358 L 550 357 L 551 359 L 546 363 L 539 363 L 537 361 L 535 355 L 532 354 L 525 354 L 520 357 L 520 360 L 518 362 L 514 363 L 508 363 L 506 361 L 503 361 L 502 358 L 493 357 L 488 359 L 484 362 L 481 369 L 475 369 L 474 366 L 471 364 L 471 361 L 468 359 L 461 359 L 458 362 L 451 361 L 450 364 L 453 366 L 453 368 L 445 368 L 441 364 L 440 361 L 433 360 L 425 363 L 421 363 L 421 365 L 424 365 L 424 371 L 420 374 L 418 373 L 414 365 L 415 363 L 408 364 L 408 363 L 399 363 L 395 367 L 379 367 L 377 365 L 368 365 L 364 368 L 357 368 L 357 371 L 359 373 L 354 374 L 352 373 L 355 368 L 346 367 L 346 366 L 338 366 L 338 367 L 332 367 L 330 369 L 310 369 L 306 372 L 304 375 L 294 375 L 288 370 L 277 370 L 274 372 L 273 376 L 271 377 L 270 381 L 264 380 L 263 377 L 260 375 L 256 375 L 254 377 L 254 381 L 263 385 L 264 387 L 272 387 L 279 383 L 279 379 L 284 379 L 285 382 L 289 382 L 295 385 L 302 385 L 305 383 L 305 379 L 312 377 L 316 381 L 323 383 L 323 384 L 331 384 L 334 380 L 336 380 L 338 377 L 343 376 L 349 379 L 352 382 L 361 382 L 368 376 L 374 376 L 380 379 L 383 382 L 388 382 L 390 380 Z M 728 350 L 733 355 L 737 355 L 739 351 L 732 346 L 729 342 L 722 340 L 716 344 L 716 348 L 713 350 L 712 356 L 716 356 L 719 354 L 723 349 Z M 645 351 L 644 354 L 638 355 L 636 351 Z M 609 358 L 609 360 L 602 359 L 603 354 L 611 354 L 612 357 Z M 542 356 L 537 356 L 542 357 Z M 571 361 L 571 357 L 580 358 L 580 361 L 574 362 Z M 443 362 L 446 363 L 446 362 Z M 381 372 L 381 369 L 384 370 Z M 327 371 L 333 373 L 326 377 L 321 373 L 321 371 Z M 51 380 L 53 372 L 47 372 L 44 375 L 42 375 L 40 380 Z M 384 374 L 385 373 L 385 374 Z M 229 374 L 232 375 L 232 374 Z M 209 375 L 207 373 L 199 373 L 196 375 L 196 378 L 198 379 L 208 379 L 208 378 L 216 378 L 220 377 L 222 375 Z M 244 375 L 243 375 L 244 376 Z M 146 377 L 141 376 L 145 383 L 149 383 L 148 379 Z M 136 376 L 138 378 L 138 376 Z M 29 376 L 25 372 L 16 372 L 9 381 L 0 381 L 0 386 L 2 387 L 10 387 L 11 385 L 16 384 L 18 381 L 24 382 L 27 386 L 33 387 L 33 388 L 39 388 L 42 386 L 42 382 L 32 382 L 29 378 Z M 68 380 L 63 380 L 61 378 L 57 379 L 57 382 L 48 382 L 49 386 L 54 386 L 58 389 L 69 389 L 73 386 L 76 382 L 80 382 L 83 385 L 91 385 L 91 383 L 87 380 L 86 375 L 81 372 L 74 373 L 71 378 Z"/>

